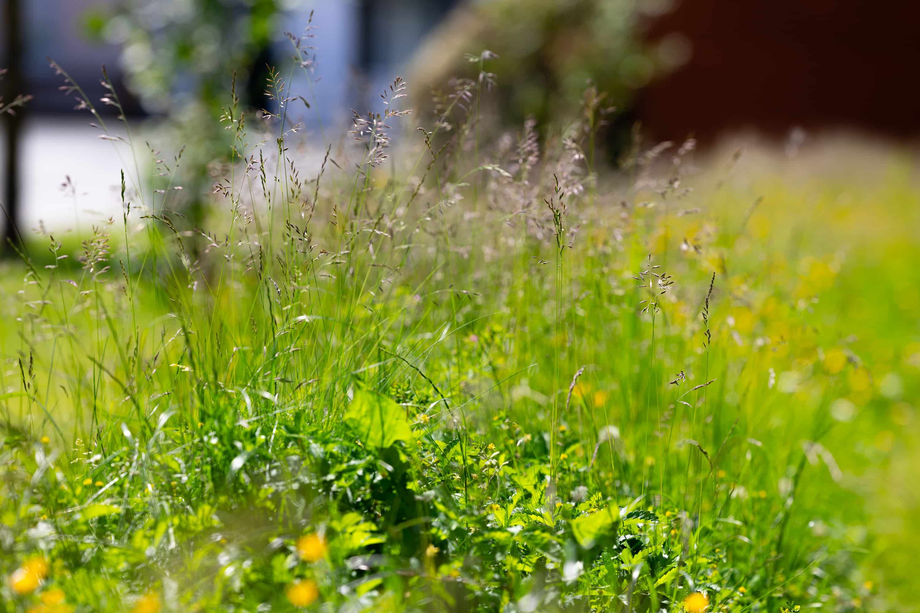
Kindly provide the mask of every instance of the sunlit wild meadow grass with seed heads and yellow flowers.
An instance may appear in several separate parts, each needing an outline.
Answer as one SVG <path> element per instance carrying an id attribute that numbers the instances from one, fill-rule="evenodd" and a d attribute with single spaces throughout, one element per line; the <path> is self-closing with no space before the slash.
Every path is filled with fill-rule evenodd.
<path id="1" fill-rule="evenodd" d="M 913 167 L 487 145 L 488 59 L 310 176 L 273 72 L 206 228 L 152 150 L 3 265 L 3 610 L 913 606 Z"/>

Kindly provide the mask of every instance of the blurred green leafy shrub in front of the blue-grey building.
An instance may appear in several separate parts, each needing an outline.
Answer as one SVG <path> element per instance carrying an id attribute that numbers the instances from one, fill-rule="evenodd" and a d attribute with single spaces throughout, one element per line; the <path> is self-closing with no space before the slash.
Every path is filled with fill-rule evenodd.
<path id="1" fill-rule="evenodd" d="M 144 109 L 164 120 L 172 142 L 185 144 L 181 206 L 201 221 L 208 165 L 230 151 L 220 122 L 231 88 L 244 107 L 263 108 L 270 46 L 281 32 L 284 0 L 116 0 L 86 14 L 89 35 L 121 45 L 125 85 Z M 282 6 L 283 5 L 283 6 Z"/>

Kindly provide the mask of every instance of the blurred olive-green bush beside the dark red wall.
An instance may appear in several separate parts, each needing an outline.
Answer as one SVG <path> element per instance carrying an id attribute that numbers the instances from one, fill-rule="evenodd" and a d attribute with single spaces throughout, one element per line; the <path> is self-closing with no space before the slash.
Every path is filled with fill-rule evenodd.
<path id="1" fill-rule="evenodd" d="M 471 3 L 431 34 L 412 63 L 409 84 L 420 99 L 449 89 L 451 77 L 471 74 L 465 54 L 488 49 L 498 56 L 486 70 L 495 74 L 494 108 L 506 124 L 533 117 L 545 128 L 571 117 L 589 83 L 622 112 L 668 68 L 667 58 L 645 49 L 638 36 L 641 19 L 665 8 L 640 0 Z"/>

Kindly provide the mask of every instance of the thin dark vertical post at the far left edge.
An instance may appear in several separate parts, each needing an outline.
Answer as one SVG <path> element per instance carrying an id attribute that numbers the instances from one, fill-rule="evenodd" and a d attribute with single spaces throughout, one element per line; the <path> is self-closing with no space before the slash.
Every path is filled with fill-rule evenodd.
<path id="1" fill-rule="evenodd" d="M 19 0 L 6 0 L 3 11 L 4 38 L 6 39 L 6 49 L 4 50 L 6 58 L 6 68 L 9 72 L 4 75 L 4 80 L 0 85 L 4 87 L 4 101 L 8 104 L 16 99 L 16 96 L 22 94 L 25 80 L 22 77 L 22 55 L 23 55 L 23 36 L 22 36 L 22 10 Z M 15 109 L 16 114 L 4 113 L 6 123 L 6 156 L 3 173 L 6 177 L 6 190 L 3 195 L 4 208 L 6 209 L 6 229 L 4 231 L 3 245 L 0 249 L 6 248 L 7 241 L 14 243 L 20 242 L 20 234 L 17 228 L 19 219 L 19 139 L 22 134 L 22 116 L 23 108 Z"/>

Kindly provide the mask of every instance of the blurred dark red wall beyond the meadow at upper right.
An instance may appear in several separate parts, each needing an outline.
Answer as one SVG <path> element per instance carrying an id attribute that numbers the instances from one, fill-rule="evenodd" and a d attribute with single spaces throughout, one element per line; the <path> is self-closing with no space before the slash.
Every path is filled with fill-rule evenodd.
<path id="1" fill-rule="evenodd" d="M 793 126 L 920 135 L 918 0 L 683 0 L 647 38 L 674 32 L 689 62 L 638 100 L 657 139 Z"/>

